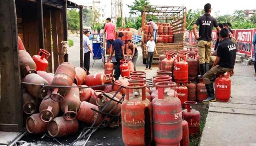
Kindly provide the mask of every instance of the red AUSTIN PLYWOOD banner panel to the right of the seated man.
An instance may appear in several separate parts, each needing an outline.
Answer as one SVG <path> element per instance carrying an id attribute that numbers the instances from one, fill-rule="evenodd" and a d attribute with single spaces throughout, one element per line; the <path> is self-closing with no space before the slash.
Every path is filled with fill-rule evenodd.
<path id="1" fill-rule="evenodd" d="M 237 51 L 252 56 L 253 29 L 236 30 Z"/>

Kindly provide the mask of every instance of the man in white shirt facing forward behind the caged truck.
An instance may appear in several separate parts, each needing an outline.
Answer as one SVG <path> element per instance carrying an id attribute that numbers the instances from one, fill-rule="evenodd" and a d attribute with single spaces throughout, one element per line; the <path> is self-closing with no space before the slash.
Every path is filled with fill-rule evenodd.
<path id="1" fill-rule="evenodd" d="M 150 40 L 147 41 L 147 45 L 146 45 L 146 55 L 147 55 L 146 70 L 151 69 L 152 60 L 154 57 L 154 51 L 157 54 L 157 48 L 155 47 L 154 37 L 153 37 L 153 35 L 151 35 Z"/>

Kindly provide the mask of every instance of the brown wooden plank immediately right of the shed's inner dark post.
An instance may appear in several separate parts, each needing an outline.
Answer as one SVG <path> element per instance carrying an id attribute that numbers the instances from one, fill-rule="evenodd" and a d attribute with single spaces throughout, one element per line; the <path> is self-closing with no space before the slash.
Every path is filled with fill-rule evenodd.
<path id="1" fill-rule="evenodd" d="M 52 32 L 51 32 L 51 22 L 50 22 L 50 9 L 44 9 L 44 41 L 45 50 L 47 50 L 51 56 L 48 58 L 48 68 L 47 72 L 52 73 Z"/>

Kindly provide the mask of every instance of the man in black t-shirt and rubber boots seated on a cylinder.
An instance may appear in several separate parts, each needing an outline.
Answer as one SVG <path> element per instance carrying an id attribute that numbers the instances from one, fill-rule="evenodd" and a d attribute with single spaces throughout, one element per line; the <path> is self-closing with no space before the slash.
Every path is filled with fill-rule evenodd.
<path id="1" fill-rule="evenodd" d="M 208 93 L 208 98 L 203 100 L 204 103 L 216 101 L 214 96 L 214 88 L 211 79 L 218 74 L 230 72 L 230 76 L 234 75 L 234 65 L 236 61 L 236 45 L 229 39 L 229 31 L 227 28 L 222 28 L 221 32 L 222 41 L 219 43 L 217 49 L 217 57 L 212 68 L 204 74 L 204 82 Z"/>

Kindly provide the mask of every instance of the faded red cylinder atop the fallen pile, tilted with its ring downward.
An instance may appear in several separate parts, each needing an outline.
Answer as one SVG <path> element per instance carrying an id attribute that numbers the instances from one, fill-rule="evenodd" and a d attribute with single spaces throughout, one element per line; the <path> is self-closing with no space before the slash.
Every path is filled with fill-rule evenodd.
<path id="1" fill-rule="evenodd" d="M 72 86 L 75 76 L 75 67 L 68 62 L 63 62 L 60 66 L 58 66 L 55 72 L 52 85 Z M 54 88 L 50 98 L 54 101 L 60 102 L 64 99 L 63 96 L 65 93 L 69 90 L 70 88 Z"/>

